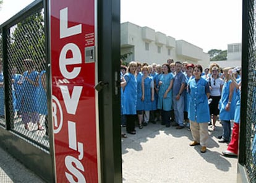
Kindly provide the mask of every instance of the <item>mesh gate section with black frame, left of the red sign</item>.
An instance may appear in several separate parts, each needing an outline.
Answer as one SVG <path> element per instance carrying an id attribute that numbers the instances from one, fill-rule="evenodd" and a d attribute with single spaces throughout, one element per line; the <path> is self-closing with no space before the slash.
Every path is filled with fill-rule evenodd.
<path id="1" fill-rule="evenodd" d="M 54 182 L 43 7 L 34 1 L 0 25 L 0 145 Z"/>

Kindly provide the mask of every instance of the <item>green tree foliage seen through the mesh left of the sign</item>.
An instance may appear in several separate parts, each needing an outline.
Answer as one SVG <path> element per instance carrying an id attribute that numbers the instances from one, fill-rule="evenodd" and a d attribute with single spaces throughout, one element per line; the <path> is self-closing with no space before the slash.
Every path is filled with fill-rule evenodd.
<path id="1" fill-rule="evenodd" d="M 11 33 L 10 60 L 14 66 L 24 59 L 40 62 L 45 59 L 44 19 L 41 11 L 22 20 Z"/>

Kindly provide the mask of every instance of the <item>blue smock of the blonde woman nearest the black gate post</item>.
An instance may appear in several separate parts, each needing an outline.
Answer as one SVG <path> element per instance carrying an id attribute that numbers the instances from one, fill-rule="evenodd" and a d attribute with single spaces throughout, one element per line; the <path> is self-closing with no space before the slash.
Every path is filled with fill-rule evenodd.
<path id="1" fill-rule="evenodd" d="M 123 114 L 136 114 L 137 103 L 137 79 L 129 72 L 124 75 L 126 87 L 124 87 L 124 111 Z"/>

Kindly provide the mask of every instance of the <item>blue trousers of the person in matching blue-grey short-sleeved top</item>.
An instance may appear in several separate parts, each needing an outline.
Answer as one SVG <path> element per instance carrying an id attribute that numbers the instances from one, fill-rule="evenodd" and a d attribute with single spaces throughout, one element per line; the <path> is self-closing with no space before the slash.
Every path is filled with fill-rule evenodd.
<path id="1" fill-rule="evenodd" d="M 184 126 L 184 96 L 180 96 L 179 100 L 176 100 L 176 96 L 173 96 L 173 109 L 175 121 L 179 126 Z"/>

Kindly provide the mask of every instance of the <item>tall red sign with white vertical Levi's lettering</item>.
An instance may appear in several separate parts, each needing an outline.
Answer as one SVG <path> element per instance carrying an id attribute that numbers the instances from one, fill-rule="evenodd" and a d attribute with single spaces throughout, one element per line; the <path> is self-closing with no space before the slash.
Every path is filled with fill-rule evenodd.
<path id="1" fill-rule="evenodd" d="M 95 183 L 95 1 L 51 0 L 50 14 L 56 180 Z"/>

